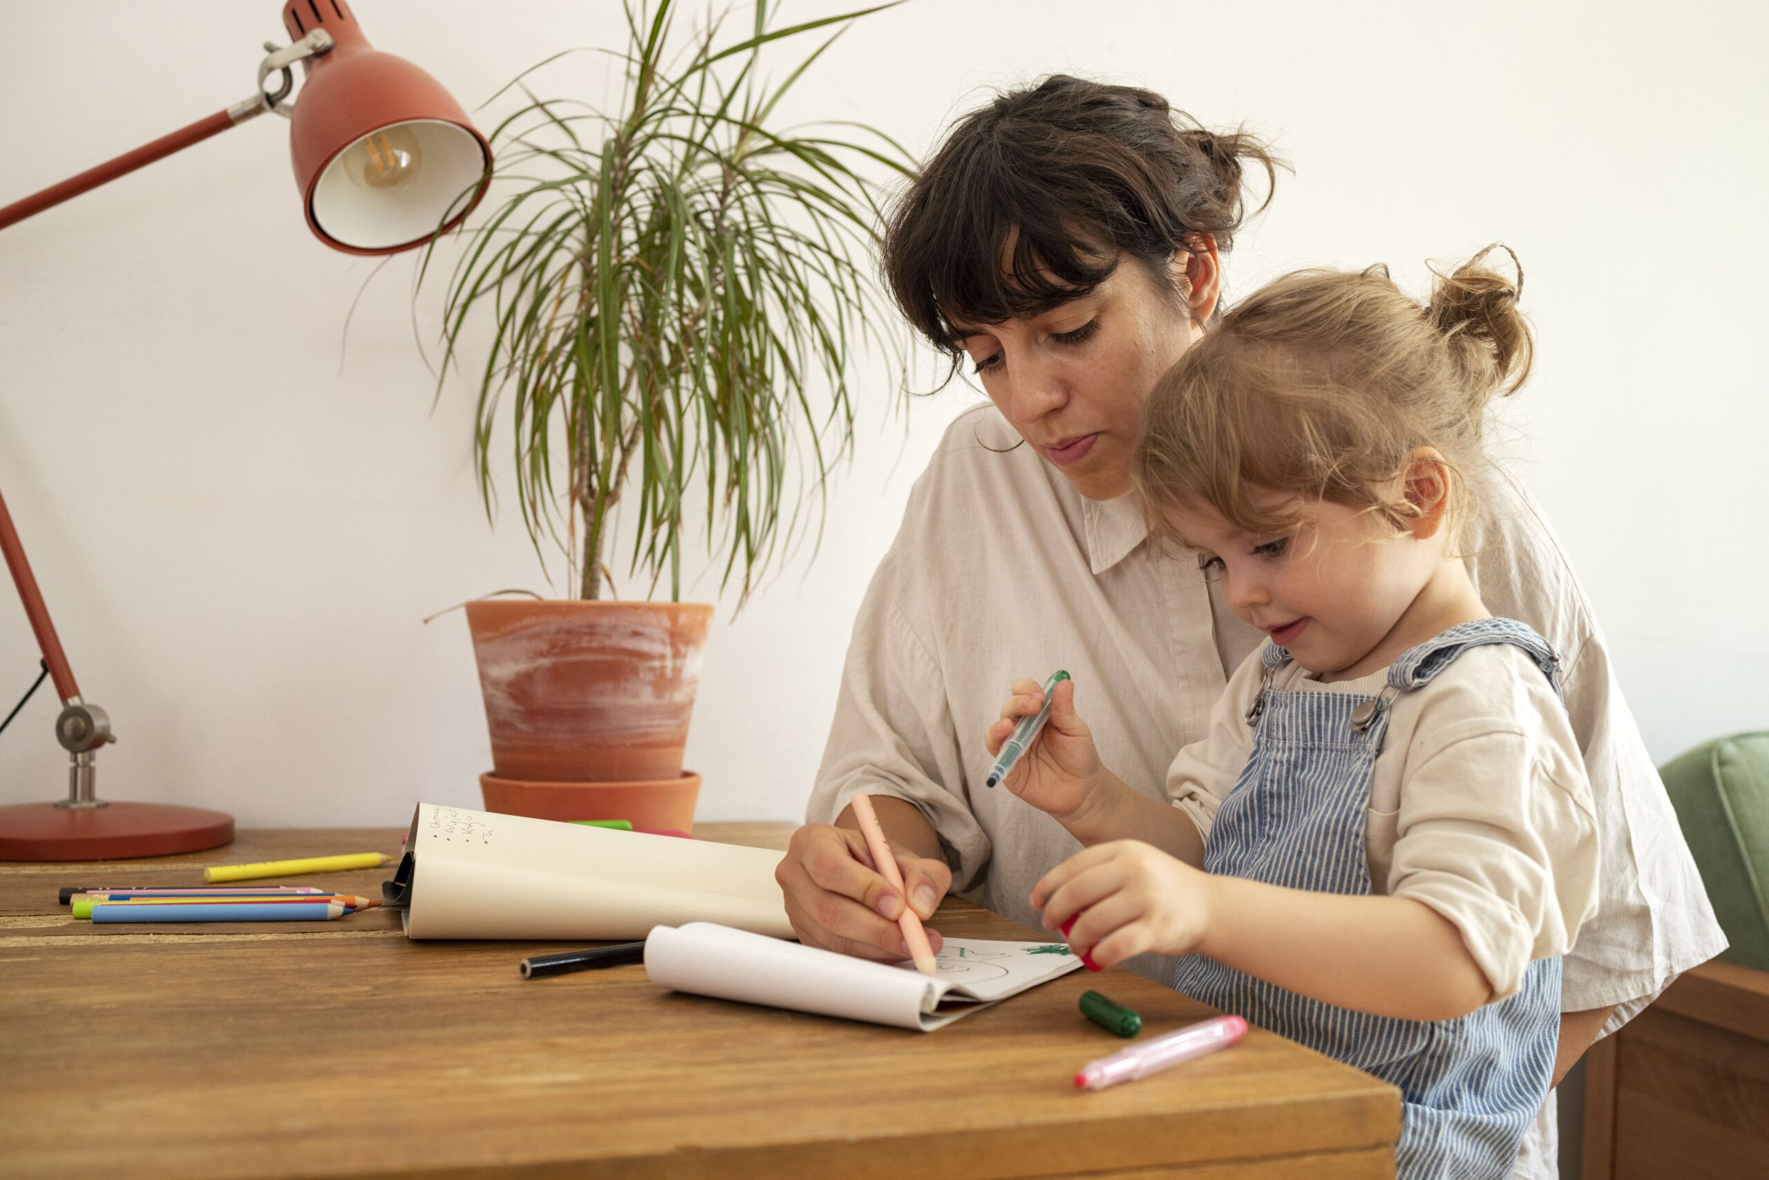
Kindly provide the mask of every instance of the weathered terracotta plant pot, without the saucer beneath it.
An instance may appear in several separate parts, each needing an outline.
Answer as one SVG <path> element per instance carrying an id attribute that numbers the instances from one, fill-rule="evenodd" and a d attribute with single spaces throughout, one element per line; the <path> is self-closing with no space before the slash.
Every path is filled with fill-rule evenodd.
<path id="1" fill-rule="evenodd" d="M 678 778 L 711 619 L 706 603 L 467 603 L 492 773 L 571 784 Z"/>

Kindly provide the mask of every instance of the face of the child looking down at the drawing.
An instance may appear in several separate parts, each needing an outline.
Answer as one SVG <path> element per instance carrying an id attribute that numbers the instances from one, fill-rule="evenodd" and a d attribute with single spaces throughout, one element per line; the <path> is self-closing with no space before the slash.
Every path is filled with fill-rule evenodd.
<path id="1" fill-rule="evenodd" d="M 1265 510 L 1300 501 L 1270 494 Z M 1295 534 L 1252 536 L 1196 502 L 1164 510 L 1222 584 L 1229 609 L 1311 672 L 1343 672 L 1375 651 L 1442 561 L 1440 540 L 1396 533 L 1375 513 L 1311 501 Z M 1362 676 L 1375 669 L 1357 669 Z"/>

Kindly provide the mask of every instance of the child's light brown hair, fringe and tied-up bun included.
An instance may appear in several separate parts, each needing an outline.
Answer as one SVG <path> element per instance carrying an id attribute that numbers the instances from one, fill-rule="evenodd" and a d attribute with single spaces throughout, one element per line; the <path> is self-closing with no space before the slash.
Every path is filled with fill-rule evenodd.
<path id="1" fill-rule="evenodd" d="M 1132 462 L 1150 525 L 1176 540 L 1160 510 L 1199 502 L 1244 533 L 1290 533 L 1300 513 L 1252 495 L 1275 490 L 1403 529 L 1419 511 L 1396 478 L 1421 446 L 1444 455 L 1459 524 L 1486 405 L 1523 384 L 1534 350 L 1523 269 L 1486 269 L 1495 248 L 1511 253 L 1488 246 L 1438 274 L 1424 306 L 1375 265 L 1297 271 L 1222 315 L 1150 395 Z"/>

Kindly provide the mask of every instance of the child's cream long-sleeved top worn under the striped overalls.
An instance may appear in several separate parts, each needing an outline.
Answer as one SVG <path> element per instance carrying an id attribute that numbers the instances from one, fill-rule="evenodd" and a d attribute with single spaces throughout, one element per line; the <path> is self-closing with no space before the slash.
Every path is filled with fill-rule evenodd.
<path id="1" fill-rule="evenodd" d="M 1261 656 L 1235 670 L 1210 732 L 1168 771 L 1168 798 L 1205 837 L 1252 752 Z M 1387 676 L 1327 685 L 1291 662 L 1272 688 L 1373 697 Z M 1530 961 L 1566 954 L 1597 911 L 1597 819 L 1566 709 L 1521 647 L 1486 644 L 1389 713 L 1364 823 L 1371 892 L 1449 918 L 1493 1000 L 1512 996 Z"/>

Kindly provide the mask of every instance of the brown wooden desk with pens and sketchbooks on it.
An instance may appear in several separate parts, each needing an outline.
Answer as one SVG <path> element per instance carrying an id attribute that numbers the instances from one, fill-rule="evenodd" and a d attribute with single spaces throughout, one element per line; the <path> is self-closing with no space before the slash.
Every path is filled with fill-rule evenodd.
<path id="1" fill-rule="evenodd" d="M 784 847 L 791 824 L 701 824 Z M 412 943 L 398 915 L 94 927 L 60 885 L 398 851 L 400 830 L 241 831 L 226 849 L 0 863 L 0 1171 L 25 1176 L 1392 1176 L 1396 1090 L 1254 1030 L 1099 1093 L 1076 1067 L 1208 1010 L 1076 971 L 936 1033 L 665 992 L 642 966 L 522 980 L 543 943 Z M 389 867 L 391 869 L 391 867 Z M 380 895 L 389 869 L 315 885 Z M 302 881 L 280 881 L 297 885 Z M 948 900 L 936 925 L 1040 938 Z"/>

